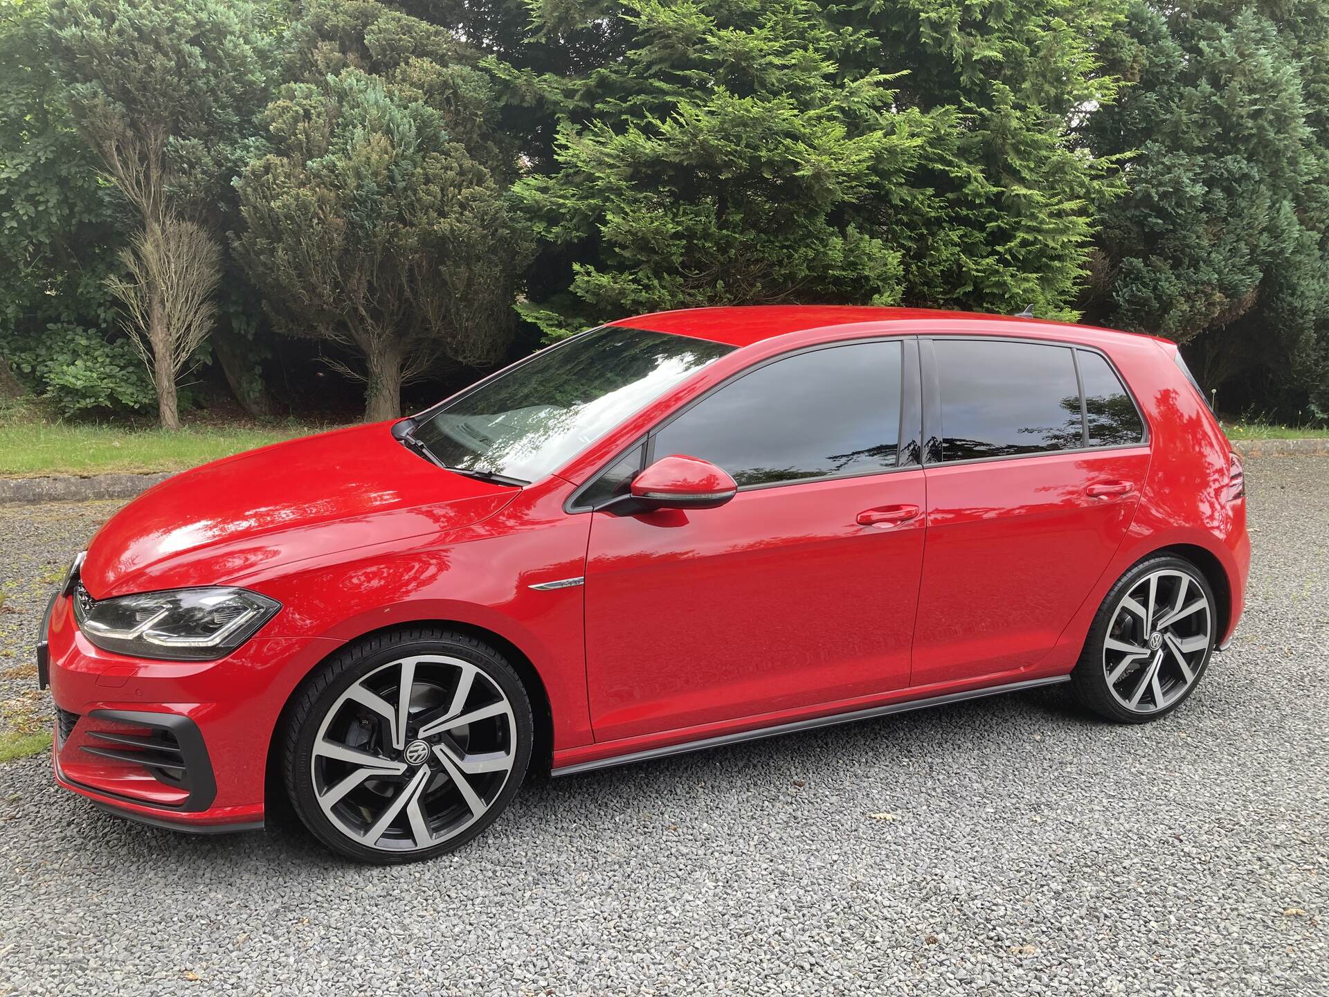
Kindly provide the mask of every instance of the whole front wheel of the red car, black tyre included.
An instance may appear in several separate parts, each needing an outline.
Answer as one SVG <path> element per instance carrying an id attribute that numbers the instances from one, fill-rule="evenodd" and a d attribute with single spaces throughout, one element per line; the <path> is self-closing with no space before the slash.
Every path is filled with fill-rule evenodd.
<path id="1" fill-rule="evenodd" d="M 530 763 L 530 701 L 493 647 L 445 629 L 367 638 L 296 693 L 283 779 L 306 827 L 392 864 L 460 848 L 512 802 Z"/>

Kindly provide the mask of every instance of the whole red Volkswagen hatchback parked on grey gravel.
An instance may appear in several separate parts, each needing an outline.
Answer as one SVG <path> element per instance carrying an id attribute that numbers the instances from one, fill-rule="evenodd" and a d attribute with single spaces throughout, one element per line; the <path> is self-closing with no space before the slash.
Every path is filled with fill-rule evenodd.
<path id="1" fill-rule="evenodd" d="M 326 844 L 403 861 L 536 767 L 1067 681 L 1147 720 L 1232 637 L 1244 495 L 1164 340 L 625 319 L 129 504 L 43 621 L 54 774 L 193 831 L 259 826 L 271 774 Z"/>

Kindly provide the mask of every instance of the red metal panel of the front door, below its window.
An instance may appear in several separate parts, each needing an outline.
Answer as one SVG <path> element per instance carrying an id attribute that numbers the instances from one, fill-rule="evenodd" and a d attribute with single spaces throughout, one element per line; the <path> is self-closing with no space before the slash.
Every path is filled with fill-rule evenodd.
<path id="1" fill-rule="evenodd" d="M 909 681 L 921 471 L 740 492 L 702 512 L 594 513 L 586 677 L 598 739 L 894 689 Z"/>

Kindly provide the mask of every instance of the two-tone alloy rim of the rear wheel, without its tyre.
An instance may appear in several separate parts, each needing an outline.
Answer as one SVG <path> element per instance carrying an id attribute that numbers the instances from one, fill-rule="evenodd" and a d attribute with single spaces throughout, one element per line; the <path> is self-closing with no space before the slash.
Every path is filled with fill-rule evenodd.
<path id="1" fill-rule="evenodd" d="M 1118 602 L 1103 642 L 1112 698 L 1136 714 L 1181 699 L 1209 654 L 1212 618 L 1209 597 L 1185 572 L 1142 576 Z"/>

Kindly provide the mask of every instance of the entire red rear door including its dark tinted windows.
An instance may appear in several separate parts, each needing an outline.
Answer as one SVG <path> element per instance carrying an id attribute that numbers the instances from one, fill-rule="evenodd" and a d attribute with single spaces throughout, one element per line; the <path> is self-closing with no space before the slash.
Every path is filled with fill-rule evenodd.
<path id="1" fill-rule="evenodd" d="M 1146 425 L 1094 350 L 936 336 L 920 354 L 928 548 L 910 685 L 1018 671 L 1122 544 Z"/>

